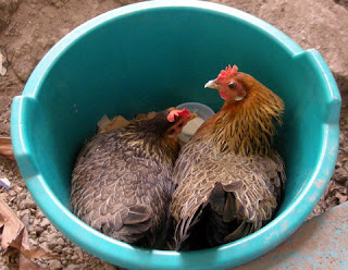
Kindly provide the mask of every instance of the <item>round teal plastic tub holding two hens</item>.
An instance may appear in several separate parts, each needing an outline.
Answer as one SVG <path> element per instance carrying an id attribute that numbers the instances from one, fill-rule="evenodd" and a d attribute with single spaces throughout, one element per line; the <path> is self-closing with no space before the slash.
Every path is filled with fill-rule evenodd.
<path id="1" fill-rule="evenodd" d="M 108 114 L 127 118 L 187 101 L 217 111 L 204 83 L 236 64 L 286 105 L 277 148 L 287 185 L 262 230 L 197 251 L 141 249 L 89 228 L 70 210 L 71 173 L 86 138 Z M 201 1 L 151 1 L 104 13 L 74 29 L 40 61 L 12 105 L 11 136 L 37 205 L 72 242 L 129 269 L 227 269 L 287 238 L 323 194 L 338 150 L 340 96 L 316 50 L 302 50 L 268 23 Z"/>

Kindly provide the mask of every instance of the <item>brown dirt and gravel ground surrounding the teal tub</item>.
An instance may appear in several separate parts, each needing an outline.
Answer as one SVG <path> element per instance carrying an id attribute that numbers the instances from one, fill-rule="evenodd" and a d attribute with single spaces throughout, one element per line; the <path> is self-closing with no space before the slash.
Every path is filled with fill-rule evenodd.
<path id="1" fill-rule="evenodd" d="M 0 135 L 10 135 L 12 98 L 21 95 L 35 65 L 76 26 L 136 1 L 127 0 L 0 0 Z M 318 49 L 331 68 L 343 97 L 340 145 L 336 170 L 311 217 L 347 200 L 348 189 L 348 1 L 347 0 L 214 0 L 249 12 L 282 29 L 303 49 Z M 1 58 L 0 58 L 1 59 Z M 2 66 L 1 66 L 2 65 Z M 13 161 L 0 157 L 0 177 L 12 187 L 0 197 L 17 213 L 30 244 L 61 255 L 40 260 L 44 269 L 109 269 L 60 234 L 28 194 Z M 1 251 L 1 248 L 0 248 Z M 15 258 L 14 258 L 15 259 Z M 0 270 L 15 269 L 0 258 Z"/>

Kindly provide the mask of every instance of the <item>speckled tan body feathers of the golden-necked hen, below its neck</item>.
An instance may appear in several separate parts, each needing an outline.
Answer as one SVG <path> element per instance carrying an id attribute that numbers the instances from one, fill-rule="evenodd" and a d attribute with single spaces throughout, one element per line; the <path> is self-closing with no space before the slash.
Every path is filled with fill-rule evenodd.
<path id="1" fill-rule="evenodd" d="M 253 230 L 271 219 L 277 207 L 277 193 L 284 181 L 278 155 L 244 157 L 220 155 L 215 149 L 210 140 L 190 142 L 182 149 L 174 168 L 177 188 L 171 211 L 177 221 L 178 245 L 188 237 L 189 229 L 198 222 L 208 202 L 225 222 L 237 218 L 252 223 Z M 226 192 L 232 196 L 226 197 Z"/>

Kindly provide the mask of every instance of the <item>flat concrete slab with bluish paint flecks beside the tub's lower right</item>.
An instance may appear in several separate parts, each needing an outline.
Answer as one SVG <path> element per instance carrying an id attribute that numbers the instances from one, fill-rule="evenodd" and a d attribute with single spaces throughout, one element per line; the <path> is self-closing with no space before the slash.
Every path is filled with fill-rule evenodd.
<path id="1" fill-rule="evenodd" d="M 348 269 L 348 202 L 307 221 L 269 254 L 234 270 Z"/>

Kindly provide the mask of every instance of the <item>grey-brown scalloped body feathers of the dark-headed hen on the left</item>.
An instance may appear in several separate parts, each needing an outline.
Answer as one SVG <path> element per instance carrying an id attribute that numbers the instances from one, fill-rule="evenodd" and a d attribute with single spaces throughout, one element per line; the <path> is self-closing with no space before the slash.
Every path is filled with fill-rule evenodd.
<path id="1" fill-rule="evenodd" d="M 165 228 L 171 168 L 135 156 L 132 146 L 110 136 L 117 132 L 98 135 L 83 149 L 73 172 L 72 208 L 104 234 L 135 243 Z"/>

